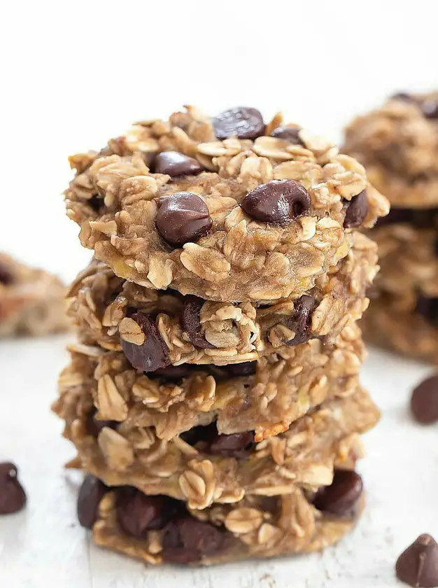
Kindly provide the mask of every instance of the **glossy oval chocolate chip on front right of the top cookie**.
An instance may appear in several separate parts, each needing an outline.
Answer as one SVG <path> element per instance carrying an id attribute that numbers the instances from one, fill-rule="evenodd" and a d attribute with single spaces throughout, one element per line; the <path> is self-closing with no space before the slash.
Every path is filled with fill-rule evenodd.
<path id="1" fill-rule="evenodd" d="M 271 180 L 248 192 L 241 207 L 252 218 L 264 223 L 288 223 L 309 211 L 310 196 L 294 180 Z"/>

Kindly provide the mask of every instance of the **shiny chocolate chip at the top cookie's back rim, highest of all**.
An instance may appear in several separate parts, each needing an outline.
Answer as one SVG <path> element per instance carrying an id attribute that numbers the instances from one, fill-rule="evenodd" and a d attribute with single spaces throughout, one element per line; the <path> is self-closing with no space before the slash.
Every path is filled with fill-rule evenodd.
<path id="1" fill-rule="evenodd" d="M 264 133 L 264 122 L 260 112 L 243 106 L 220 113 L 213 118 L 212 123 L 216 137 L 220 140 L 228 137 L 256 139 Z"/>

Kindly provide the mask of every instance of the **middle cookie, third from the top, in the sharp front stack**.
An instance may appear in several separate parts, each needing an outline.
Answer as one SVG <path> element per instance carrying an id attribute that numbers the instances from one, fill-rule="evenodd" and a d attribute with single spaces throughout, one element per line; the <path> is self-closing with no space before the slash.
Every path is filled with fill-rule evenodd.
<path id="1" fill-rule="evenodd" d="M 334 346 L 313 340 L 257 362 L 169 366 L 143 374 L 123 353 L 73 345 L 71 363 L 59 377 L 57 412 L 68 420 L 69 399 L 86 393 L 97 419 L 154 426 L 171 440 L 216 419 L 220 433 L 255 430 L 257 440 L 275 435 L 327 398 L 353 393 L 365 358 L 356 325 Z M 91 400 L 90 400 L 91 401 Z M 73 417 L 76 412 L 73 411 Z"/>

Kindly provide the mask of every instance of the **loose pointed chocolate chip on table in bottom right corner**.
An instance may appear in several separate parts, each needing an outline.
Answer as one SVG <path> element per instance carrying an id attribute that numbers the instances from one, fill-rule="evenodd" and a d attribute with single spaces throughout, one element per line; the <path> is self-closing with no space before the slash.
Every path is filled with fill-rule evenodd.
<path id="1" fill-rule="evenodd" d="M 397 578 L 413 588 L 438 586 L 438 545 L 425 533 L 399 556 L 395 563 Z"/>

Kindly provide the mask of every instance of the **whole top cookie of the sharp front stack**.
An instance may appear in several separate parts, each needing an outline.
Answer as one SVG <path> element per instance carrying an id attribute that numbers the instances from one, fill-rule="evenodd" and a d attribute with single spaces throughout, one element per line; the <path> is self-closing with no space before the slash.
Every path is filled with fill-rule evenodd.
<path id="1" fill-rule="evenodd" d="M 357 161 L 255 109 L 188 106 L 70 161 L 82 244 L 122 278 L 206 300 L 299 297 L 388 212 Z"/>

